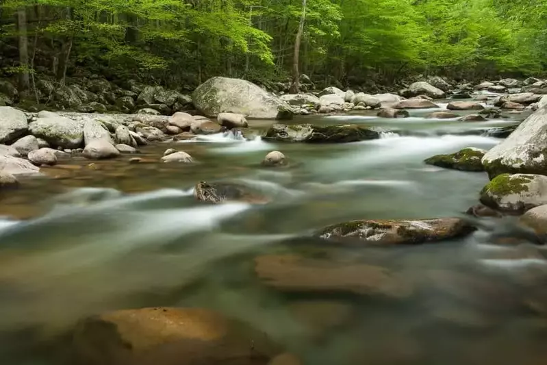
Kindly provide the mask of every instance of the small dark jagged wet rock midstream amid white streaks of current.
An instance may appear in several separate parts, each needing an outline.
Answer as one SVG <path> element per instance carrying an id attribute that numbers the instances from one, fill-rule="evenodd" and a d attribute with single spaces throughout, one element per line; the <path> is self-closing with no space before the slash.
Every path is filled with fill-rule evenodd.
<path id="1" fill-rule="evenodd" d="M 214 204 L 231 201 L 264 204 L 270 201 L 270 199 L 253 188 L 249 188 L 249 186 L 224 181 L 215 183 L 200 181 L 194 188 L 194 197 L 199 201 Z"/>

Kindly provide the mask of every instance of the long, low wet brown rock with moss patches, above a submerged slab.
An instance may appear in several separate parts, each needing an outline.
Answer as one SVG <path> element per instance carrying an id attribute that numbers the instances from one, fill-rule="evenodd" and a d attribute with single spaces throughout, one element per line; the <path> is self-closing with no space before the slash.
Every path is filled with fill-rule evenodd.
<path id="1" fill-rule="evenodd" d="M 317 236 L 355 244 L 422 244 L 466 236 L 474 229 L 461 218 L 364 220 L 331 225 Z"/>

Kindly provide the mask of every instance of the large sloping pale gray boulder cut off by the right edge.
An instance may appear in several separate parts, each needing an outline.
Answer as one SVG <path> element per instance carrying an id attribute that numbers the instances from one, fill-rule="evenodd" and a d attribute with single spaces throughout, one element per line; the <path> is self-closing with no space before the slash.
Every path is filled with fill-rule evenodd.
<path id="1" fill-rule="evenodd" d="M 547 106 L 531 114 L 483 157 L 492 178 L 502 173 L 547 173 Z"/>

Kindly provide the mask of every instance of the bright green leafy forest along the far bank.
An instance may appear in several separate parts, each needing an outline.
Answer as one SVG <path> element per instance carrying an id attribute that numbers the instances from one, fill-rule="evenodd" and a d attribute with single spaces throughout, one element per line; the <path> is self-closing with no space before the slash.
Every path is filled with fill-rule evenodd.
<path id="1" fill-rule="evenodd" d="M 346 85 L 546 69 L 547 0 L 4 0 L 0 20 L 8 76 L 287 79 L 295 45 L 301 73 Z"/>

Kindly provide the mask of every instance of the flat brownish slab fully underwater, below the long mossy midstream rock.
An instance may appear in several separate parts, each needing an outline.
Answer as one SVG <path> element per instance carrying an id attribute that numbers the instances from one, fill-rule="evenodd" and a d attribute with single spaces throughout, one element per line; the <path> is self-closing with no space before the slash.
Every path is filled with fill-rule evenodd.
<path id="1" fill-rule="evenodd" d="M 403 273 L 361 263 L 263 255 L 255 258 L 255 273 L 264 285 L 281 292 L 357 294 L 381 299 L 405 299 L 414 293 L 414 283 Z"/>

